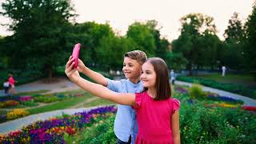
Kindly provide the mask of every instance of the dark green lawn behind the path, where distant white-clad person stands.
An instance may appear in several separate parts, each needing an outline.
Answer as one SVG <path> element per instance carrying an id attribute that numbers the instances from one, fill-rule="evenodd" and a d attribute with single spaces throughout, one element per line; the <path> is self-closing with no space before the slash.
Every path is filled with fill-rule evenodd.
<path id="1" fill-rule="evenodd" d="M 193 77 L 210 79 L 220 83 L 242 84 L 244 86 L 250 86 L 251 88 L 256 89 L 256 82 L 254 82 L 254 78 L 249 74 L 226 74 L 225 77 L 222 77 L 221 74 L 202 74 L 194 75 Z"/>

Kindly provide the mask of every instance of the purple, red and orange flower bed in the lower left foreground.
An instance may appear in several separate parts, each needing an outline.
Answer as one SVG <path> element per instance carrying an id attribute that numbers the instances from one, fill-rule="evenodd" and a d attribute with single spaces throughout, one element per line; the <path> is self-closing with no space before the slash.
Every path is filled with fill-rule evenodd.
<path id="1" fill-rule="evenodd" d="M 63 135 L 76 134 L 96 122 L 99 117 L 108 117 L 116 112 L 114 106 L 100 107 L 88 112 L 77 113 L 63 118 L 51 118 L 44 122 L 34 122 L 22 130 L 14 131 L 7 136 L 0 136 L 0 143 L 65 143 Z"/>

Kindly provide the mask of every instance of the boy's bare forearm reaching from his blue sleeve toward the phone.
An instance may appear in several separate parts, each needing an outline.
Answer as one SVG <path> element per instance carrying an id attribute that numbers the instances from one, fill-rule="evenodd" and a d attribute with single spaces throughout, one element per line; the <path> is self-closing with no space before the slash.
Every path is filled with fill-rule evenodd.
<path id="1" fill-rule="evenodd" d="M 80 59 L 78 59 L 78 71 L 94 80 L 94 82 L 103 86 L 107 86 L 107 78 L 105 78 L 102 74 L 95 72 L 94 70 L 90 70 Z"/>

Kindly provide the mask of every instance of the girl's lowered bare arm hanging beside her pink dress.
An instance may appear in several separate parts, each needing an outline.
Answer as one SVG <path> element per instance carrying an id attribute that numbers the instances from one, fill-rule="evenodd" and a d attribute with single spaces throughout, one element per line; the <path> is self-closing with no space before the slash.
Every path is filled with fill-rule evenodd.
<path id="1" fill-rule="evenodd" d="M 174 114 L 172 115 L 170 125 L 173 133 L 174 144 L 180 144 L 181 139 L 179 134 L 179 111 L 178 110 L 175 110 Z"/>

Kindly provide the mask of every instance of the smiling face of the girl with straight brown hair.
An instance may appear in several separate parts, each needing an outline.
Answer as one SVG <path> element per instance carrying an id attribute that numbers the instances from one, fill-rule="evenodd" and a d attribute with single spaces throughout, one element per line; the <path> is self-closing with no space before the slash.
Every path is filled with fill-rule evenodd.
<path id="1" fill-rule="evenodd" d="M 154 71 L 154 66 L 150 62 L 145 62 L 142 65 L 142 75 L 141 79 L 143 86 L 147 88 L 154 88 L 157 75 Z"/>

